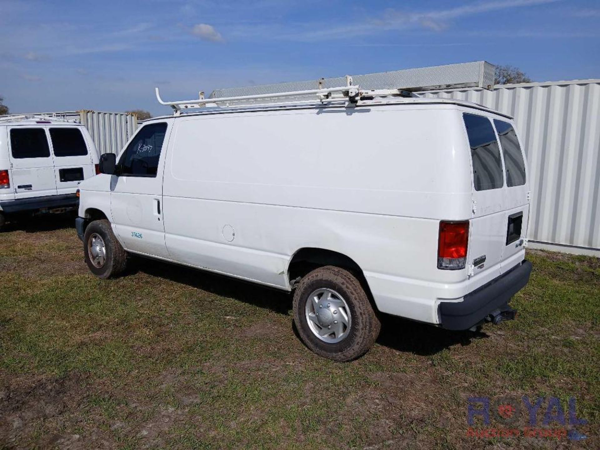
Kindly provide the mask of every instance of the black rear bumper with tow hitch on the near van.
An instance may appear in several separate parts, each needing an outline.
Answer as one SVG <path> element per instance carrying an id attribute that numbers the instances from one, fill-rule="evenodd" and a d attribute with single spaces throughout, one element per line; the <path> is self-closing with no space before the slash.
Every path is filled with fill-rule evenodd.
<path id="1" fill-rule="evenodd" d="M 508 306 L 508 301 L 526 286 L 531 269 L 531 262 L 524 260 L 506 274 L 465 295 L 462 302 L 440 303 L 440 325 L 451 330 L 466 330 L 486 321 L 500 323 L 514 319 L 516 311 Z"/>

